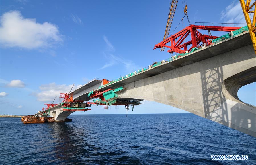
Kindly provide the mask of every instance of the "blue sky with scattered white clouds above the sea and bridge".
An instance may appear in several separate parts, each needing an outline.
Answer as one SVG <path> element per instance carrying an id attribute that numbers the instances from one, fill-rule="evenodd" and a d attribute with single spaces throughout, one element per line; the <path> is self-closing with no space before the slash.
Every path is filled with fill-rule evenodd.
<path id="1" fill-rule="evenodd" d="M 187 5 L 191 24 L 245 22 L 238 1 Z M 153 50 L 163 39 L 169 1 L 1 1 L 0 8 L 1 114 L 34 114 L 55 96 L 58 103 L 60 92 L 68 92 L 73 83 L 77 88 L 95 77 L 116 79 L 170 57 Z M 170 33 L 183 16 L 179 1 Z M 183 23 L 188 25 L 186 19 Z M 182 24 L 176 31 L 181 29 Z M 242 87 L 239 97 L 255 105 L 255 83 Z M 76 113 L 126 110 L 92 107 Z M 130 113 L 186 111 L 144 101 Z"/>

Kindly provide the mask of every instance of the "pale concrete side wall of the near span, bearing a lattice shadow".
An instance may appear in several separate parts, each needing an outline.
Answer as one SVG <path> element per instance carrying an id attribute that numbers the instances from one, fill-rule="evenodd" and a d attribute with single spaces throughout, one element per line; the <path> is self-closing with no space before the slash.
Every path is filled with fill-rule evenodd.
<path id="1" fill-rule="evenodd" d="M 202 50 L 204 56 L 220 51 L 215 48 Z M 256 137 L 256 107 L 237 96 L 241 86 L 256 81 L 255 65 L 253 46 L 247 45 L 169 71 L 155 69 L 159 74 L 124 84 L 118 97 L 171 105 Z"/>

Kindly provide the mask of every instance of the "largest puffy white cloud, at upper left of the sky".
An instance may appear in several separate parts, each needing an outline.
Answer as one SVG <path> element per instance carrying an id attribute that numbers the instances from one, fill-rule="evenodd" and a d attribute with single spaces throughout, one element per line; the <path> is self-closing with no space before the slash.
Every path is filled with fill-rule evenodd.
<path id="1" fill-rule="evenodd" d="M 24 18 L 19 11 L 1 16 L 1 45 L 5 47 L 42 48 L 62 41 L 58 26 L 36 19 Z"/>

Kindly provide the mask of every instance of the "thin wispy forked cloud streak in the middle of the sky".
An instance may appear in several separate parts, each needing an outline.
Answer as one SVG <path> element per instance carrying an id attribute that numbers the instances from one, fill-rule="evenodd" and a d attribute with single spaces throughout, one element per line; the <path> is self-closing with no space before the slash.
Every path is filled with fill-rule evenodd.
<path id="1" fill-rule="evenodd" d="M 114 52 L 115 47 L 112 45 L 112 43 L 110 43 L 110 41 L 108 41 L 108 39 L 105 35 L 103 36 L 103 39 L 108 47 L 108 51 L 103 52 L 105 57 L 108 59 L 108 63 L 103 65 L 103 67 L 101 67 L 100 69 L 104 69 L 104 68 L 110 67 L 114 64 L 118 64 L 118 63 L 123 64 L 127 71 L 132 71 L 132 69 L 139 69 L 139 67 L 134 62 L 132 62 L 132 60 L 127 60 L 120 56 L 118 57 L 118 56 L 115 56 L 115 55 L 109 53 L 109 52 Z"/>

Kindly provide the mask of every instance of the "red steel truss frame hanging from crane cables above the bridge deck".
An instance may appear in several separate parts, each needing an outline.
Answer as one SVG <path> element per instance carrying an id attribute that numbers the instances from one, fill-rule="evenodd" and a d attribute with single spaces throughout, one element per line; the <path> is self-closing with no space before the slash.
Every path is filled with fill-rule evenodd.
<path id="1" fill-rule="evenodd" d="M 234 31 L 239 29 L 240 27 L 225 27 L 225 26 L 202 26 L 202 25 L 190 25 L 185 29 L 179 31 L 178 33 L 171 35 L 169 38 L 155 45 L 155 48 L 170 48 L 167 52 L 169 53 L 185 53 L 185 51 L 190 52 L 192 48 L 197 47 L 201 42 L 206 43 L 207 45 L 211 44 L 210 39 L 216 39 L 217 36 L 212 36 L 210 34 L 210 30 L 212 31 Z M 208 30 L 209 35 L 205 35 L 200 33 L 198 30 Z M 183 41 L 191 35 L 191 40 L 183 43 Z M 171 43 L 171 45 L 167 45 L 167 43 Z M 183 44 L 182 44 L 183 43 Z M 190 48 L 187 46 L 191 45 Z"/>

